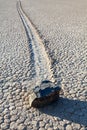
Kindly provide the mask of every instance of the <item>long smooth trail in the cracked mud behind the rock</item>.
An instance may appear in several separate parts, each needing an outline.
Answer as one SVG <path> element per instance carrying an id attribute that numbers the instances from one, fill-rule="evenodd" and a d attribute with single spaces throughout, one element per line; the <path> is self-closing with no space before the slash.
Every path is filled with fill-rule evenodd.
<path id="1" fill-rule="evenodd" d="M 29 49 L 31 50 L 31 62 L 35 69 L 35 80 L 41 82 L 42 80 L 54 81 L 53 73 L 50 69 L 50 60 L 45 51 L 44 45 L 33 27 L 31 21 L 23 11 L 21 2 L 17 2 L 17 10 L 26 30 L 29 41 Z"/>

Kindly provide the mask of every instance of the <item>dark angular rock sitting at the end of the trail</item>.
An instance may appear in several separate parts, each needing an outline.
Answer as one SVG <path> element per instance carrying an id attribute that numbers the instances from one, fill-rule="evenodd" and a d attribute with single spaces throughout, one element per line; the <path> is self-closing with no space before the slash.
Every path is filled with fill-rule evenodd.
<path id="1" fill-rule="evenodd" d="M 43 107 L 59 97 L 60 87 L 51 81 L 42 81 L 40 86 L 36 86 L 29 95 L 31 107 Z"/>

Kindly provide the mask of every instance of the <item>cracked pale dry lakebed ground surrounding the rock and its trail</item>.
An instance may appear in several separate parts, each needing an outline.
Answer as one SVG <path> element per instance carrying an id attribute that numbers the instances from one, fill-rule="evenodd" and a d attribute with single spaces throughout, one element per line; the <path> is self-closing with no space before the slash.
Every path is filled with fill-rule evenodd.
<path id="1" fill-rule="evenodd" d="M 87 130 L 87 1 L 23 0 L 22 6 L 64 96 L 40 111 L 23 100 L 34 74 L 29 41 L 16 1 L 0 0 L 0 129 Z"/>

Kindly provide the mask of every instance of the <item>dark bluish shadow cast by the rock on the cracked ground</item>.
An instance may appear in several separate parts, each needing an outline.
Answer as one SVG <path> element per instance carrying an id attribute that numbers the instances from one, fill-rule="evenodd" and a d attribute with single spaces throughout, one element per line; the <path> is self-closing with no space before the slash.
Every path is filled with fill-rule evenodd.
<path id="1" fill-rule="evenodd" d="M 40 111 L 60 119 L 87 126 L 87 102 L 60 97 L 59 100 Z"/>

